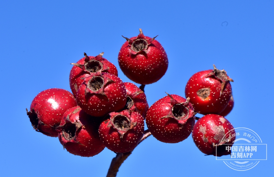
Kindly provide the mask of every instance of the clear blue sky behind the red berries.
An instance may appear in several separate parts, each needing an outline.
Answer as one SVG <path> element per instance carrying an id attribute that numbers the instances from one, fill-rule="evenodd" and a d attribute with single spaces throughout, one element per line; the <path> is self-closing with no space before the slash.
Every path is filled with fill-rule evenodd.
<path id="1" fill-rule="evenodd" d="M 169 59 L 166 74 L 147 85 L 149 106 L 169 94 L 183 97 L 201 70 L 225 69 L 235 105 L 226 117 L 255 131 L 268 160 L 251 170 L 228 168 L 204 156 L 188 137 L 165 144 L 150 136 L 122 164 L 117 176 L 256 176 L 273 173 L 273 1 L 1 1 L 0 176 L 105 176 L 114 152 L 78 157 L 58 138 L 32 129 L 25 109 L 48 88 L 70 90 L 68 76 L 83 52 L 118 67 L 125 37 L 157 37 Z M 227 23 L 222 22 L 227 21 Z M 228 25 L 227 25 L 228 24 Z M 118 68 L 119 77 L 130 82 Z M 271 111 L 272 110 L 272 111 Z M 201 115 L 200 115 L 201 116 Z"/>

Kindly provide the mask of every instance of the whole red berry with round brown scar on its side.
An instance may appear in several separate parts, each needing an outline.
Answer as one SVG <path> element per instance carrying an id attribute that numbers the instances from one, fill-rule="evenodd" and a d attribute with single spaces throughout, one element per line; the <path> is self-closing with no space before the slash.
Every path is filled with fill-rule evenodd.
<path id="1" fill-rule="evenodd" d="M 188 80 L 185 96 L 190 97 L 195 111 L 201 114 L 219 114 L 227 106 L 232 90 L 225 70 L 206 70 L 195 73 Z"/>

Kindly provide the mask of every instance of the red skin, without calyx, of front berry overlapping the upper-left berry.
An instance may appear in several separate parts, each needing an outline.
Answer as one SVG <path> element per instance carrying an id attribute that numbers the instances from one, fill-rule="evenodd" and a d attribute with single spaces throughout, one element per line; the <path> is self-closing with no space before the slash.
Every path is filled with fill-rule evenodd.
<path id="1" fill-rule="evenodd" d="M 93 74 L 94 75 L 94 74 Z M 92 76 L 89 77 L 92 78 Z M 110 112 L 120 111 L 124 108 L 127 96 L 125 85 L 122 80 L 109 73 L 102 73 L 102 76 L 105 76 L 114 81 L 114 83 L 107 84 L 104 87 L 105 96 L 100 94 L 89 94 L 85 95 L 86 83 L 83 82 L 79 87 L 76 100 L 78 105 L 87 113 L 94 117 L 103 117 Z M 107 82 L 106 80 L 104 81 Z"/>

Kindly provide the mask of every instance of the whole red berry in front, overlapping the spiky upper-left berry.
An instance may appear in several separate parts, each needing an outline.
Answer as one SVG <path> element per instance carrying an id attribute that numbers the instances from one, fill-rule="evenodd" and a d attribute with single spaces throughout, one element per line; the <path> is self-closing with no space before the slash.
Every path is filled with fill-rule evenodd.
<path id="1" fill-rule="evenodd" d="M 94 117 L 120 111 L 127 101 L 122 80 L 109 73 L 94 73 L 86 77 L 79 87 L 76 100 L 79 106 Z"/>

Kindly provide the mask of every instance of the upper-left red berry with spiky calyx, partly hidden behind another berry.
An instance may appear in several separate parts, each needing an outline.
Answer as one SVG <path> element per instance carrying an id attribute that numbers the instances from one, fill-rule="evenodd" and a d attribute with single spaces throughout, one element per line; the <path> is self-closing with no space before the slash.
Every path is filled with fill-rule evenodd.
<path id="1" fill-rule="evenodd" d="M 71 63 L 74 66 L 70 70 L 69 85 L 74 96 L 76 96 L 78 88 L 83 83 L 83 78 L 89 77 L 90 73 L 101 71 L 118 76 L 117 68 L 114 64 L 103 58 L 103 54 L 104 52 L 94 57 L 87 56 L 84 53 L 85 57 L 81 58 L 77 63 Z"/>

